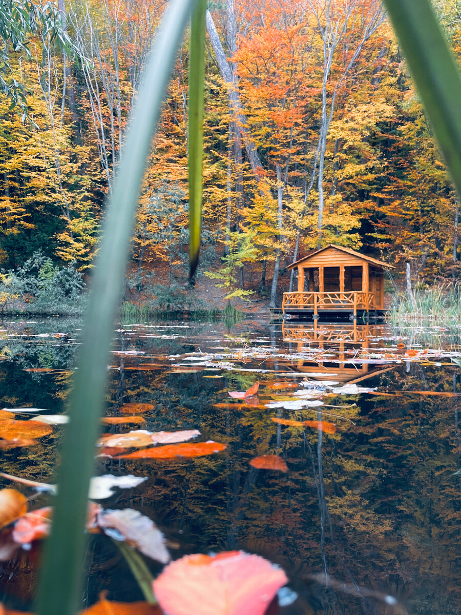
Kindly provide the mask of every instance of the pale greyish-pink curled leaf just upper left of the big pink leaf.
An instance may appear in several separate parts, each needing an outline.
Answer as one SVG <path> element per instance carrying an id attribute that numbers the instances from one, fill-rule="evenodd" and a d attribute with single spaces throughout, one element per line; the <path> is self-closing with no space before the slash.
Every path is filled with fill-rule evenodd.
<path id="1" fill-rule="evenodd" d="M 171 559 L 162 532 L 138 510 L 103 510 L 98 515 L 97 524 L 111 538 L 127 542 L 153 560 L 166 564 Z"/>

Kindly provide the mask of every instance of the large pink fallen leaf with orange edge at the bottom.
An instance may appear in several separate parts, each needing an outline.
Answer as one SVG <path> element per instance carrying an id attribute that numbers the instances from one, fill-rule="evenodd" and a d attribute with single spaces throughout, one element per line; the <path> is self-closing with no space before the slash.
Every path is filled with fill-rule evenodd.
<path id="1" fill-rule="evenodd" d="M 186 555 L 152 585 L 169 615 L 263 615 L 287 581 L 282 569 L 259 555 L 229 551 Z"/>

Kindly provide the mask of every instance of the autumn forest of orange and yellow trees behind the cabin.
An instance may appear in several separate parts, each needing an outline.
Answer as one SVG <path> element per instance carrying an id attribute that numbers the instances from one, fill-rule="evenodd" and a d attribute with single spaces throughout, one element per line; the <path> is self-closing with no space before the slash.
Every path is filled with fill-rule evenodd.
<path id="1" fill-rule="evenodd" d="M 392 28 L 376 0 L 343 5 L 209 7 L 197 279 L 221 298 L 259 293 L 274 307 L 293 287 L 286 266 L 330 243 L 396 264 L 389 289 L 407 263 L 414 284 L 459 278 L 457 197 Z M 0 258 L 15 271 L 38 254 L 85 277 L 164 2 L 59 8 L 72 54 L 47 31 L 9 53 L 6 79 L 24 95 L 16 105 L 0 95 Z M 458 4 L 438 9 L 459 54 Z M 128 299 L 174 296 L 187 280 L 187 63 L 184 42 L 144 179 Z"/>

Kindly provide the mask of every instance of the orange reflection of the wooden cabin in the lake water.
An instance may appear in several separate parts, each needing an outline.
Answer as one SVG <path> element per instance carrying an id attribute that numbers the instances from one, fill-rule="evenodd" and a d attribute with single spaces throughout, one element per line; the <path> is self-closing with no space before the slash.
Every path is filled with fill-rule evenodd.
<path id="1" fill-rule="evenodd" d="M 384 325 L 357 325 L 357 323 L 325 324 L 314 320 L 312 324 L 297 325 L 282 323 L 283 341 L 297 345 L 296 352 L 308 351 L 309 347 L 325 349 L 328 356 L 318 354 L 315 360 L 299 359 L 297 370 L 309 379 L 335 380 L 339 383 L 360 383 L 395 368 L 361 362 L 358 357 L 369 349 L 379 351 L 383 346 Z M 293 348 L 294 350 L 294 348 Z M 351 352 L 351 351 L 357 352 Z M 354 358 L 357 357 L 357 358 Z M 351 363 L 351 361 L 354 361 Z"/>

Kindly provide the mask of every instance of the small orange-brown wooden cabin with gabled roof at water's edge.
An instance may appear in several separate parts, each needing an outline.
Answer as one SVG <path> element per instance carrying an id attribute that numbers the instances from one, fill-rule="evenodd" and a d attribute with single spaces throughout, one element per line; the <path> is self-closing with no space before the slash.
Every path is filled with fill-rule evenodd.
<path id="1" fill-rule="evenodd" d="M 382 314 L 384 270 L 392 265 L 341 245 L 327 245 L 299 259 L 297 291 L 283 293 L 283 314 Z"/>

